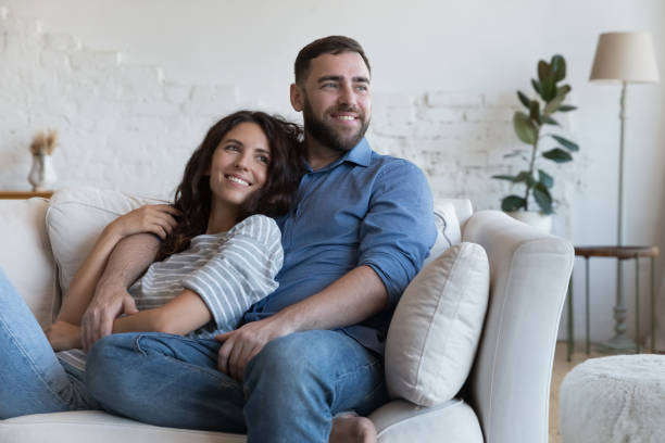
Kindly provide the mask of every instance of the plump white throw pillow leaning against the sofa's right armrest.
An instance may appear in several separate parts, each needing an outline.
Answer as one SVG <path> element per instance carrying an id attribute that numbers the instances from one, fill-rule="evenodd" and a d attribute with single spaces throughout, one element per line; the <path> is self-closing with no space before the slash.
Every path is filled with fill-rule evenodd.
<path id="1" fill-rule="evenodd" d="M 474 362 L 489 298 L 482 246 L 461 243 L 421 270 L 400 300 L 386 342 L 392 397 L 421 406 L 452 398 Z"/>

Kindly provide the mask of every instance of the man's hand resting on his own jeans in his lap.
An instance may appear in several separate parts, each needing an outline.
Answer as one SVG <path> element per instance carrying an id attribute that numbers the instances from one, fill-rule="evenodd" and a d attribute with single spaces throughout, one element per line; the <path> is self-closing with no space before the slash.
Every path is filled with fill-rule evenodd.
<path id="1" fill-rule="evenodd" d="M 237 381 L 242 381 L 248 363 L 267 342 L 294 332 L 278 316 L 242 325 L 235 331 L 216 336 L 222 342 L 217 368 Z"/>

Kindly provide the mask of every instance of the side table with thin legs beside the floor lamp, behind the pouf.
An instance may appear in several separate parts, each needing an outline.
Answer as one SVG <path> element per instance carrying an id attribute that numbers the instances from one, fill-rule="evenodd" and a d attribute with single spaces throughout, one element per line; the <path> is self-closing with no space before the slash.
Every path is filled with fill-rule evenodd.
<path id="1" fill-rule="evenodd" d="M 590 257 L 614 257 L 618 261 L 622 260 L 635 260 L 635 330 L 636 339 L 639 338 L 640 332 L 640 275 L 639 275 L 639 260 L 650 258 L 651 260 L 651 352 L 655 351 L 655 295 L 654 295 L 654 267 L 655 257 L 657 257 L 660 251 L 656 246 L 575 246 L 575 255 L 585 257 L 585 333 L 586 333 L 586 351 L 587 354 L 591 353 L 591 342 L 589 340 L 589 258 Z M 619 286 L 618 291 L 623 291 Z M 568 362 L 573 355 L 574 349 L 574 329 L 573 329 L 573 276 L 570 276 L 570 283 L 568 284 L 568 332 L 567 332 L 567 344 L 568 344 Z M 636 353 L 640 352 L 639 340 L 636 340 Z"/>

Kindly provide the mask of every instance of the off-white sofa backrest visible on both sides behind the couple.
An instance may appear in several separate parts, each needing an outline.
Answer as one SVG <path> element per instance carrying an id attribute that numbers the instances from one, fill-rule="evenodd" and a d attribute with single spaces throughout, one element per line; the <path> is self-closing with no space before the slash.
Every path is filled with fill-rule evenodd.
<path id="1" fill-rule="evenodd" d="M 163 201 L 90 187 L 55 192 L 43 199 L 0 201 L 0 236 L 8 245 L 0 251 L 4 269 L 26 300 L 40 325 L 55 317 L 61 295 L 91 251 L 102 229 L 116 217 L 147 203 Z M 461 241 L 461 226 L 472 215 L 467 199 L 435 202 L 439 230 L 426 261 Z"/>

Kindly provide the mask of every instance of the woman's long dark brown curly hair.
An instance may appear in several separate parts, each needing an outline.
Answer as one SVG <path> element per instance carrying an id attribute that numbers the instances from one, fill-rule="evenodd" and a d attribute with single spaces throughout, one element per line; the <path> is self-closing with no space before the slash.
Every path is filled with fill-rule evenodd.
<path id="1" fill-rule="evenodd" d="M 271 145 L 271 162 L 265 183 L 242 204 L 238 221 L 253 214 L 276 217 L 289 211 L 300 178 L 305 172 L 302 129 L 264 112 L 235 112 L 210 128 L 203 142 L 187 162 L 173 203 L 183 215 L 178 225 L 162 242 L 158 261 L 185 251 L 193 237 L 205 233 L 212 207 L 209 173 L 212 157 L 226 134 L 241 123 L 254 123 L 261 127 Z"/>

